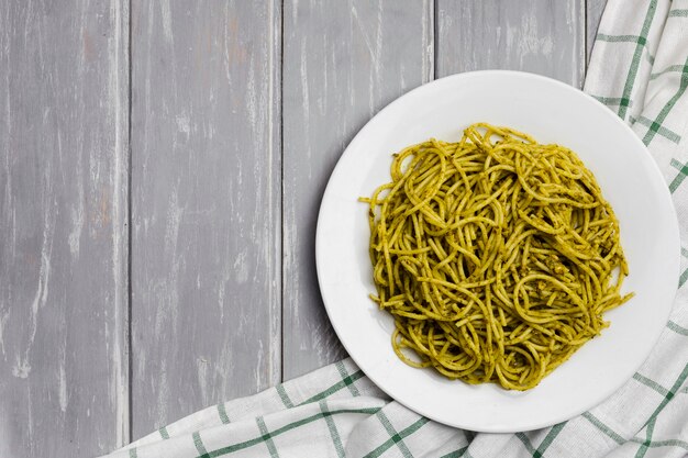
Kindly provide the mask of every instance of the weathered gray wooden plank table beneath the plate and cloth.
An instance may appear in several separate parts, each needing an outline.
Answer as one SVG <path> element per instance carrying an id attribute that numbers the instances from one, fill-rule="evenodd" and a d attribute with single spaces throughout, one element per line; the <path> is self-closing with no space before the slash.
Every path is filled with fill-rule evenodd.
<path id="1" fill-rule="evenodd" d="M 604 0 L 0 2 L 0 456 L 112 450 L 345 356 L 320 199 L 446 75 L 582 85 Z"/>

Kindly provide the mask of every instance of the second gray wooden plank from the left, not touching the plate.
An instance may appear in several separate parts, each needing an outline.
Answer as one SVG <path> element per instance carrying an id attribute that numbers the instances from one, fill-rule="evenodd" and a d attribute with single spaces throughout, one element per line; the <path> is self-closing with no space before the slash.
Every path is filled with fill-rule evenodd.
<path id="1" fill-rule="evenodd" d="M 132 2 L 133 436 L 280 380 L 280 2 Z"/>

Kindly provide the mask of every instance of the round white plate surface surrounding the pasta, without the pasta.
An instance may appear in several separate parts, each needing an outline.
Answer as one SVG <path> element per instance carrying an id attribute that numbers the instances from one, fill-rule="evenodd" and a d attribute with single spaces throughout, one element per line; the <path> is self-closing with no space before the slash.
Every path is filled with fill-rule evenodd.
<path id="1" fill-rule="evenodd" d="M 457 141 L 474 122 L 508 125 L 575 150 L 597 177 L 621 225 L 635 297 L 609 312 L 611 326 L 528 392 L 450 381 L 393 354 L 393 322 L 368 299 L 367 205 L 389 181 L 391 154 L 431 136 Z M 641 366 L 664 328 L 679 269 L 676 213 L 650 153 L 610 110 L 562 82 L 515 71 L 455 75 L 380 111 L 354 138 L 325 190 L 317 235 L 323 301 L 342 344 L 391 398 L 447 425 L 478 432 L 535 429 L 568 420 L 612 394 Z"/>

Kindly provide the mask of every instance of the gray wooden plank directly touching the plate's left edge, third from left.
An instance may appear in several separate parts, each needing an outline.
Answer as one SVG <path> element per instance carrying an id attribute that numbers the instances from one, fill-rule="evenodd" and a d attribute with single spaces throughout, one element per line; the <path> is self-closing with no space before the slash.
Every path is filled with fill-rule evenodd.
<path id="1" fill-rule="evenodd" d="M 432 12 L 429 0 L 285 2 L 285 379 L 345 355 L 315 276 L 320 200 L 353 135 L 380 108 L 432 79 Z"/>

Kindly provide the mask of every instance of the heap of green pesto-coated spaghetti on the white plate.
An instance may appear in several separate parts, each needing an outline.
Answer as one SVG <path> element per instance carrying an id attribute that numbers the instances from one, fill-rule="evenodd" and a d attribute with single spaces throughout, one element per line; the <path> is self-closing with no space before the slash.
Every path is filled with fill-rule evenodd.
<path id="1" fill-rule="evenodd" d="M 632 294 L 619 223 L 569 149 L 485 123 L 393 155 L 369 204 L 373 300 L 413 367 L 535 387 Z M 410 351 L 409 351 L 410 350 Z"/>

